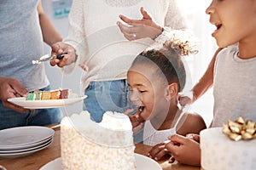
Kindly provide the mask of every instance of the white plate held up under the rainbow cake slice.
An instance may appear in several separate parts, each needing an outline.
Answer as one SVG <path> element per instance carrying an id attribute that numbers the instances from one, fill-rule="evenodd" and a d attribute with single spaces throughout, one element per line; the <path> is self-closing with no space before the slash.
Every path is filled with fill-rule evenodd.
<path id="1" fill-rule="evenodd" d="M 20 105 L 26 109 L 46 109 L 46 108 L 55 108 L 62 107 L 65 105 L 72 105 L 79 101 L 82 101 L 87 96 L 84 95 L 78 98 L 70 98 L 70 99 L 46 99 L 46 100 L 26 100 L 25 97 L 20 98 L 11 98 L 8 99 L 9 102 Z"/>

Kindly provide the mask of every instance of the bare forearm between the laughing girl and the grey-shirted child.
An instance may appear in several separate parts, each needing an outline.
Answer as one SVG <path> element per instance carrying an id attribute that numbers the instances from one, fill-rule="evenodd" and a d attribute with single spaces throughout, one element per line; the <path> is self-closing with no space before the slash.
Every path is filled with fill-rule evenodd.
<path id="1" fill-rule="evenodd" d="M 192 88 L 193 102 L 196 99 L 199 99 L 203 94 L 205 94 L 209 88 L 212 88 L 214 64 L 215 64 L 216 57 L 221 49 L 222 48 L 218 48 L 216 50 L 215 54 L 212 57 L 210 64 L 207 67 L 207 71 L 201 77 L 199 82 L 197 82 L 195 84 L 194 88 Z"/>

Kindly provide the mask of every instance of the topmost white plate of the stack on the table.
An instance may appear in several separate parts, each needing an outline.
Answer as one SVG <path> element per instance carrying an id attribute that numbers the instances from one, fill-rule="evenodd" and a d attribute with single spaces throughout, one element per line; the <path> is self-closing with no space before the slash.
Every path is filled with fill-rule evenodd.
<path id="1" fill-rule="evenodd" d="M 44 139 L 49 139 L 55 131 L 49 127 L 13 127 L 0 131 L 0 150 L 31 147 Z M 21 148 L 20 148 L 21 147 Z"/>

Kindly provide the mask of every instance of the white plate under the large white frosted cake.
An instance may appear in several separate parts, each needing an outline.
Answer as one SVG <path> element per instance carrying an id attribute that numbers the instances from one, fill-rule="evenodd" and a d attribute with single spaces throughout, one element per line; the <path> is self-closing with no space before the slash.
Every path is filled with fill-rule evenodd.
<path id="1" fill-rule="evenodd" d="M 161 170 L 159 163 L 153 159 L 143 156 L 140 154 L 135 154 L 135 160 L 137 165 L 137 170 Z M 44 167 L 41 167 L 40 170 L 61 170 L 61 157 L 56 158 L 54 161 L 49 161 Z"/>

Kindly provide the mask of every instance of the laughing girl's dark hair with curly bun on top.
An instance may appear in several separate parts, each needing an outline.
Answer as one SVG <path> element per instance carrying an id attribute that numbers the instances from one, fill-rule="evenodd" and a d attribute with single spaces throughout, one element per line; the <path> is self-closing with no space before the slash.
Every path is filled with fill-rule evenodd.
<path id="1" fill-rule="evenodd" d="M 176 82 L 178 91 L 182 91 L 186 83 L 186 71 L 181 56 L 195 54 L 197 44 L 186 38 L 185 31 L 164 31 L 155 39 L 152 46 L 137 55 L 132 65 L 157 65 L 156 73 L 166 77 L 169 84 Z M 131 66 L 132 66 L 131 65 Z"/>

